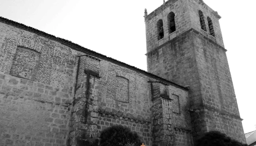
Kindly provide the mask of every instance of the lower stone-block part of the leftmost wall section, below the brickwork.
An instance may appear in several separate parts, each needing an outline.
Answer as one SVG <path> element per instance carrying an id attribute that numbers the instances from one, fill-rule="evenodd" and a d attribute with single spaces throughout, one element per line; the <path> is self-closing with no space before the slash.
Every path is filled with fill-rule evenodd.
<path id="1" fill-rule="evenodd" d="M 0 72 L 0 89 L 1 146 L 66 144 L 69 89 L 53 88 L 3 72 Z"/>

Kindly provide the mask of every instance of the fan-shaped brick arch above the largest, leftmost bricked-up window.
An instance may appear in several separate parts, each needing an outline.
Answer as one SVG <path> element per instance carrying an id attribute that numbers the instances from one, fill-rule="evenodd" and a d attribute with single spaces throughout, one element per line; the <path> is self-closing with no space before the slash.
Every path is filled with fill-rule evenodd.
<path id="1" fill-rule="evenodd" d="M 42 53 L 45 48 L 41 43 L 37 43 L 34 40 L 27 38 L 17 38 L 16 42 L 18 47 L 26 47 L 36 51 L 37 53 Z"/>

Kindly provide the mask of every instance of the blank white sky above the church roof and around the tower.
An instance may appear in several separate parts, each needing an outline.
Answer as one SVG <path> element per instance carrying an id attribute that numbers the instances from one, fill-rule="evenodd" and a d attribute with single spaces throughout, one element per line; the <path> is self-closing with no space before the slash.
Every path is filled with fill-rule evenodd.
<path id="1" fill-rule="evenodd" d="M 244 132 L 255 130 L 255 0 L 204 0 L 218 14 Z M 144 9 L 163 0 L 0 0 L 0 16 L 147 70 Z"/>

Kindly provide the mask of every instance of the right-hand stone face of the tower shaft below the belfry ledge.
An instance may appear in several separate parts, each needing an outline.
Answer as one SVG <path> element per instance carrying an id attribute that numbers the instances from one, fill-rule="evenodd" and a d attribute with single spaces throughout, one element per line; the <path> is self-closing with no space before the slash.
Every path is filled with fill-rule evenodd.
<path id="1" fill-rule="evenodd" d="M 234 86 L 222 47 L 193 34 L 207 130 L 219 130 L 245 142 Z M 211 48 L 211 49 L 209 49 Z M 215 112 L 218 113 L 215 113 Z M 221 121 L 221 122 L 219 122 Z"/>

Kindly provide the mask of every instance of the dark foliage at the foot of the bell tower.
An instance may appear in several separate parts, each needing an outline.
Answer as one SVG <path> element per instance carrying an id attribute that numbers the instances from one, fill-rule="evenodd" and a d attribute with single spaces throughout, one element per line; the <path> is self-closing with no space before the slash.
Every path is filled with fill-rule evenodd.
<path id="1" fill-rule="evenodd" d="M 197 140 L 196 146 L 248 146 L 227 137 L 219 131 L 210 131 Z"/>

